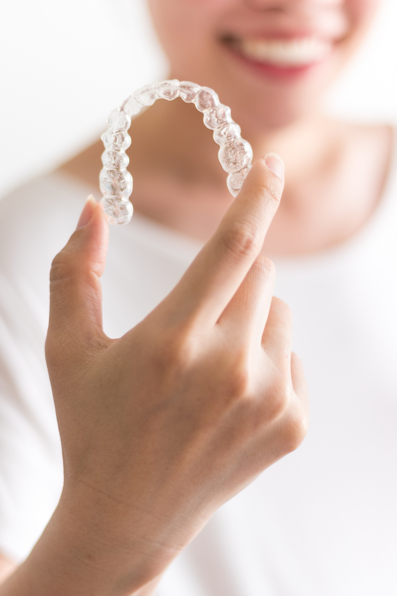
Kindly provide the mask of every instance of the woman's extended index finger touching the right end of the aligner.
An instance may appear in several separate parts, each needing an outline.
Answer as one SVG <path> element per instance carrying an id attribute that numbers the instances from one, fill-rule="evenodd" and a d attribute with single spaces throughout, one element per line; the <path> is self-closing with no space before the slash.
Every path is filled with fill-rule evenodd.
<path id="1" fill-rule="evenodd" d="M 283 186 L 278 156 L 271 153 L 255 162 L 217 231 L 171 292 L 179 316 L 198 312 L 207 323 L 217 322 L 261 251 Z"/>

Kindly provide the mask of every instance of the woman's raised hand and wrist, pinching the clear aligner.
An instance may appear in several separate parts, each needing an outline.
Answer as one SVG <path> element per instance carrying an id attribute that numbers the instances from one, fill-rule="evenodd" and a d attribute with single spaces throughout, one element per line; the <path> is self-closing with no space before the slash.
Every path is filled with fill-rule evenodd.
<path id="1" fill-rule="evenodd" d="M 258 256 L 282 188 L 258 160 L 179 284 L 117 340 L 102 331 L 108 226 L 87 202 L 88 223 L 52 263 L 46 358 L 65 480 L 15 574 L 41 570 L 30 596 L 136 591 L 301 443 L 307 390 L 291 315 Z"/>

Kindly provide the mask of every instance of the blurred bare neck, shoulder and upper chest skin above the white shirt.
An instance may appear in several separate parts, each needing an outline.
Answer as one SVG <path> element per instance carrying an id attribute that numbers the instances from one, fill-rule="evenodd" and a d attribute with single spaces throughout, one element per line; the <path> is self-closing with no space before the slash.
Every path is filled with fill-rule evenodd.
<path id="1" fill-rule="evenodd" d="M 157 101 L 133 120 L 129 133 L 136 212 L 208 240 L 233 197 L 201 114 L 179 99 Z M 263 254 L 285 256 L 335 246 L 371 218 L 387 178 L 392 131 L 317 116 L 252 145 L 254 158 L 274 151 L 285 163 L 283 201 L 263 246 Z M 98 197 L 103 150 L 98 141 L 61 168 Z"/>

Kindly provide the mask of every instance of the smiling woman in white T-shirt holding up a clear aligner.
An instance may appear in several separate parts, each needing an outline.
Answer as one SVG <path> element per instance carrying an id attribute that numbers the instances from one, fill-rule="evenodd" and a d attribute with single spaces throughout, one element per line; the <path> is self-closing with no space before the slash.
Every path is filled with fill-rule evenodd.
<path id="1" fill-rule="evenodd" d="M 235 365 L 230 359 L 224 368 L 230 346 L 237 347 L 239 355 L 249 353 L 250 365 L 256 362 L 247 352 L 246 333 L 250 344 L 265 327 L 267 355 L 271 346 L 275 349 L 274 361 L 269 356 L 266 362 L 274 362 L 270 369 L 277 378 L 281 374 L 283 395 L 294 395 L 288 376 L 289 315 L 282 303 L 273 300 L 267 318 L 271 266 L 267 260 L 255 260 L 265 232 L 261 252 L 276 262 L 275 293 L 292 308 L 295 348 L 304 359 L 311 430 L 298 451 L 211 517 L 165 571 L 158 594 L 395 593 L 397 213 L 393 199 L 397 182 L 393 134 L 387 127 L 330 122 L 317 108 L 324 89 L 364 35 L 376 5 L 376 0 L 149 2 L 170 58 L 170 78 L 214 88 L 232 108 L 254 159 L 269 151 L 282 157 L 283 198 L 267 231 L 275 207 L 267 191 L 278 200 L 283 177 L 273 156 L 255 164 L 230 206 L 217 146 L 192 106 L 180 100 L 158 101 L 133 120 L 129 157 L 137 215 L 128 226 L 111 230 L 102 279 L 107 335 L 121 336 L 151 312 L 202 244 L 208 243 L 171 299 L 127 334 L 124 344 L 113 344 L 93 331 L 100 327 L 99 290 L 93 275 L 102 272 L 106 238 L 100 208 L 94 211 L 93 204 L 87 203 L 80 222 L 86 225 L 60 253 L 52 273 L 47 358 L 64 449 L 62 507 L 26 563 L 2 587 L 4 594 L 23 594 L 23 589 L 29 594 L 61 594 L 62 589 L 68 594 L 129 594 L 137 589 L 151 593 L 155 578 L 215 509 L 298 445 L 305 430 L 299 368 L 292 364 L 297 398 L 280 401 L 274 391 L 277 383 L 268 386 L 261 377 L 263 370 L 264 378 L 270 375 L 262 363 L 261 373 L 254 365 L 251 373 L 265 391 L 261 395 L 267 404 L 261 410 L 266 422 L 258 424 L 261 446 L 252 426 L 249 433 L 243 432 L 246 417 L 251 420 L 249 408 L 251 414 L 245 410 L 241 414 L 237 408 L 237 415 L 233 410 L 235 424 L 226 424 L 221 417 L 223 423 L 214 425 L 216 440 L 212 434 L 212 442 L 209 434 L 205 440 L 199 434 L 191 451 L 183 443 L 183 429 L 189 429 L 189 440 L 195 436 L 203 402 L 207 422 L 213 414 L 212 401 L 203 395 L 218 395 L 220 387 L 227 385 Z M 86 191 L 96 192 L 102 150 L 98 142 L 54 175 L 16 191 L 0 207 L 5 222 L 1 242 L 7 254 L 2 266 L 2 308 L 8 337 L 14 342 L 4 340 L 2 346 L 7 398 L 3 417 L 7 429 L 12 429 L 2 448 L 7 453 L 2 464 L 6 480 L 2 508 L 7 517 L 0 536 L 5 559 L 8 555 L 22 560 L 29 553 L 61 492 L 51 388 L 40 356 L 48 314 L 46 279 L 52 257 L 73 230 L 80 197 Z M 27 212 L 19 227 L 10 225 L 15 201 L 21 201 Z M 32 201 L 36 201 L 34 207 Z M 224 234 L 230 238 L 236 222 L 240 229 L 240 224 L 244 227 L 252 221 L 257 222 L 255 241 L 248 252 L 237 243 L 240 249 L 232 253 L 238 254 L 238 261 L 233 261 L 228 277 L 226 265 L 214 255 L 222 253 Z M 26 251 L 31 244 L 32 260 Z M 225 246 L 231 245 L 227 241 Z M 213 262 L 224 277 L 211 285 L 211 293 L 206 280 L 212 279 Z M 204 277 L 200 277 L 202 271 Z M 159 332 L 164 329 L 164 317 L 170 320 L 170 312 L 171 320 L 179 321 L 185 311 L 193 312 L 185 305 L 202 300 L 205 305 L 208 300 L 217 304 L 216 316 L 229 305 L 224 311 L 231 325 L 224 336 L 226 344 L 220 347 L 213 338 L 210 342 L 219 349 L 215 352 L 219 358 L 208 345 L 193 342 L 192 347 L 194 325 L 188 331 L 184 327 L 187 343 L 186 338 L 182 344 L 176 342 L 174 336 L 170 341 L 168 334 Z M 157 352 L 142 349 L 152 345 Z M 102 349 L 114 359 L 105 361 L 98 355 Z M 285 349 L 288 371 L 281 357 Z M 187 375 L 186 380 L 186 367 L 190 370 L 190 358 L 196 362 L 198 353 L 206 355 L 206 368 L 193 367 L 197 374 Z M 233 349 L 232 353 L 234 358 Z M 148 373 L 146 362 L 154 361 L 158 367 Z M 171 380 L 167 377 L 175 362 L 182 371 L 182 377 L 175 377 L 177 382 L 173 375 Z M 164 373 L 160 381 L 156 370 Z M 164 402 L 155 402 L 158 407 L 150 409 L 151 399 L 143 396 L 142 410 L 132 417 L 136 439 L 129 441 L 130 412 L 102 398 L 113 387 L 117 387 L 118 406 L 126 387 L 141 395 L 140 375 L 154 383 L 151 399 L 162 395 L 159 386 L 164 384 L 168 387 L 175 381 L 175 387 L 187 387 L 187 392 L 180 391 L 189 398 L 188 407 L 186 399 L 175 402 L 172 420 L 183 424 L 174 427 L 162 417 L 164 409 L 168 412 Z M 207 378 L 217 378 L 218 384 L 210 383 L 205 389 Z M 230 378 L 241 381 L 235 374 Z M 232 393 L 246 397 L 246 385 L 241 392 L 237 381 Z M 200 389 L 197 401 L 195 387 Z M 101 406 L 95 408 L 93 397 Z M 126 429 L 120 422 L 123 417 Z M 106 432 L 104 421 L 110 424 Z M 227 432 L 222 434 L 222 428 Z M 273 435 L 272 429 L 276 429 Z M 169 442 L 170 434 L 176 437 L 174 443 Z M 120 436 L 124 436 L 122 446 Z M 168 451 L 164 436 L 168 436 Z M 126 453 L 131 457 L 126 458 Z M 135 468 L 129 468 L 131 461 Z M 195 467 L 197 461 L 200 465 Z M 17 480 L 15 474 L 7 474 L 11 469 L 18 470 Z M 112 483 L 112 477 L 117 482 Z M 104 478 L 107 483 L 102 486 Z M 135 509 L 124 491 L 133 495 Z M 196 507 L 197 499 L 205 504 L 204 510 Z M 83 543 L 81 551 L 76 544 Z M 43 571 L 37 576 L 39 569 Z"/>

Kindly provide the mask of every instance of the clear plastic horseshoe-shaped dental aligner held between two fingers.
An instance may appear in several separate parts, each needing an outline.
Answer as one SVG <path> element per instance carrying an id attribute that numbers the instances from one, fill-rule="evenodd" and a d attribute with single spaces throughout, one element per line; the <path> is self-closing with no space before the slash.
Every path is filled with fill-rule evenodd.
<path id="1" fill-rule="evenodd" d="M 203 113 L 204 124 L 214 131 L 214 141 L 220 145 L 218 152 L 221 166 L 226 172 L 227 188 L 233 197 L 239 190 L 251 169 L 252 149 L 248 141 L 240 136 L 240 127 L 233 122 L 230 108 L 219 103 L 215 91 L 195 83 L 179 80 L 163 80 L 141 87 L 115 108 L 109 116 L 110 128 L 102 135 L 105 151 L 102 154 L 103 169 L 99 182 L 103 197 L 101 204 L 111 224 L 127 224 L 132 218 L 133 207 L 129 201 L 132 193 L 132 175 L 127 172 L 129 157 L 126 149 L 131 144 L 127 130 L 131 116 L 136 116 L 145 105 L 152 105 L 158 99 L 174 100 L 182 97 L 187 103 L 194 103 Z"/>

